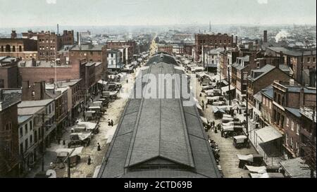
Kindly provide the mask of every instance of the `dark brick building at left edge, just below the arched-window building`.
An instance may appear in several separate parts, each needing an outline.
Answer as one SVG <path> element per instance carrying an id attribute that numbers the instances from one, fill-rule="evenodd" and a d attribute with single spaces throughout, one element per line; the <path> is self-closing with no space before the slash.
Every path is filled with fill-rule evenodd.
<path id="1" fill-rule="evenodd" d="M 0 89 L 20 87 L 19 58 L 0 57 Z"/>

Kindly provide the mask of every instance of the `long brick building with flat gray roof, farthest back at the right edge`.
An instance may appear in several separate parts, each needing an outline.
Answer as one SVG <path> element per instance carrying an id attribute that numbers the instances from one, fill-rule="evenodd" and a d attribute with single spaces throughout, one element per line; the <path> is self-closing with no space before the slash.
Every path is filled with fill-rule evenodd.
<path id="1" fill-rule="evenodd" d="M 294 79 L 301 84 L 309 84 L 302 79 L 302 70 L 310 68 L 316 69 L 316 49 L 315 50 L 289 50 L 283 47 L 268 47 L 266 49 L 268 56 L 278 56 L 284 59 L 284 63 L 292 68 Z M 303 63 L 303 64 L 302 64 Z"/>

